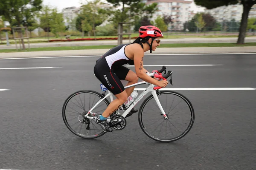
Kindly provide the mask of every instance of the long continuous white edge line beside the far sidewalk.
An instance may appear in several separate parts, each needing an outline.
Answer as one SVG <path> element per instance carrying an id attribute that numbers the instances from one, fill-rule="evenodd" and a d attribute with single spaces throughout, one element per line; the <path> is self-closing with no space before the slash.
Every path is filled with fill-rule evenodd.
<path id="1" fill-rule="evenodd" d="M 256 54 L 256 53 L 205 53 L 205 54 L 144 54 L 145 56 L 186 56 L 186 55 L 237 55 L 237 54 Z M 102 55 L 90 56 L 58 56 L 58 57 L 20 57 L 20 58 L 1 58 L 1 59 L 47 59 L 47 58 L 74 58 L 74 57 L 101 57 Z"/>

